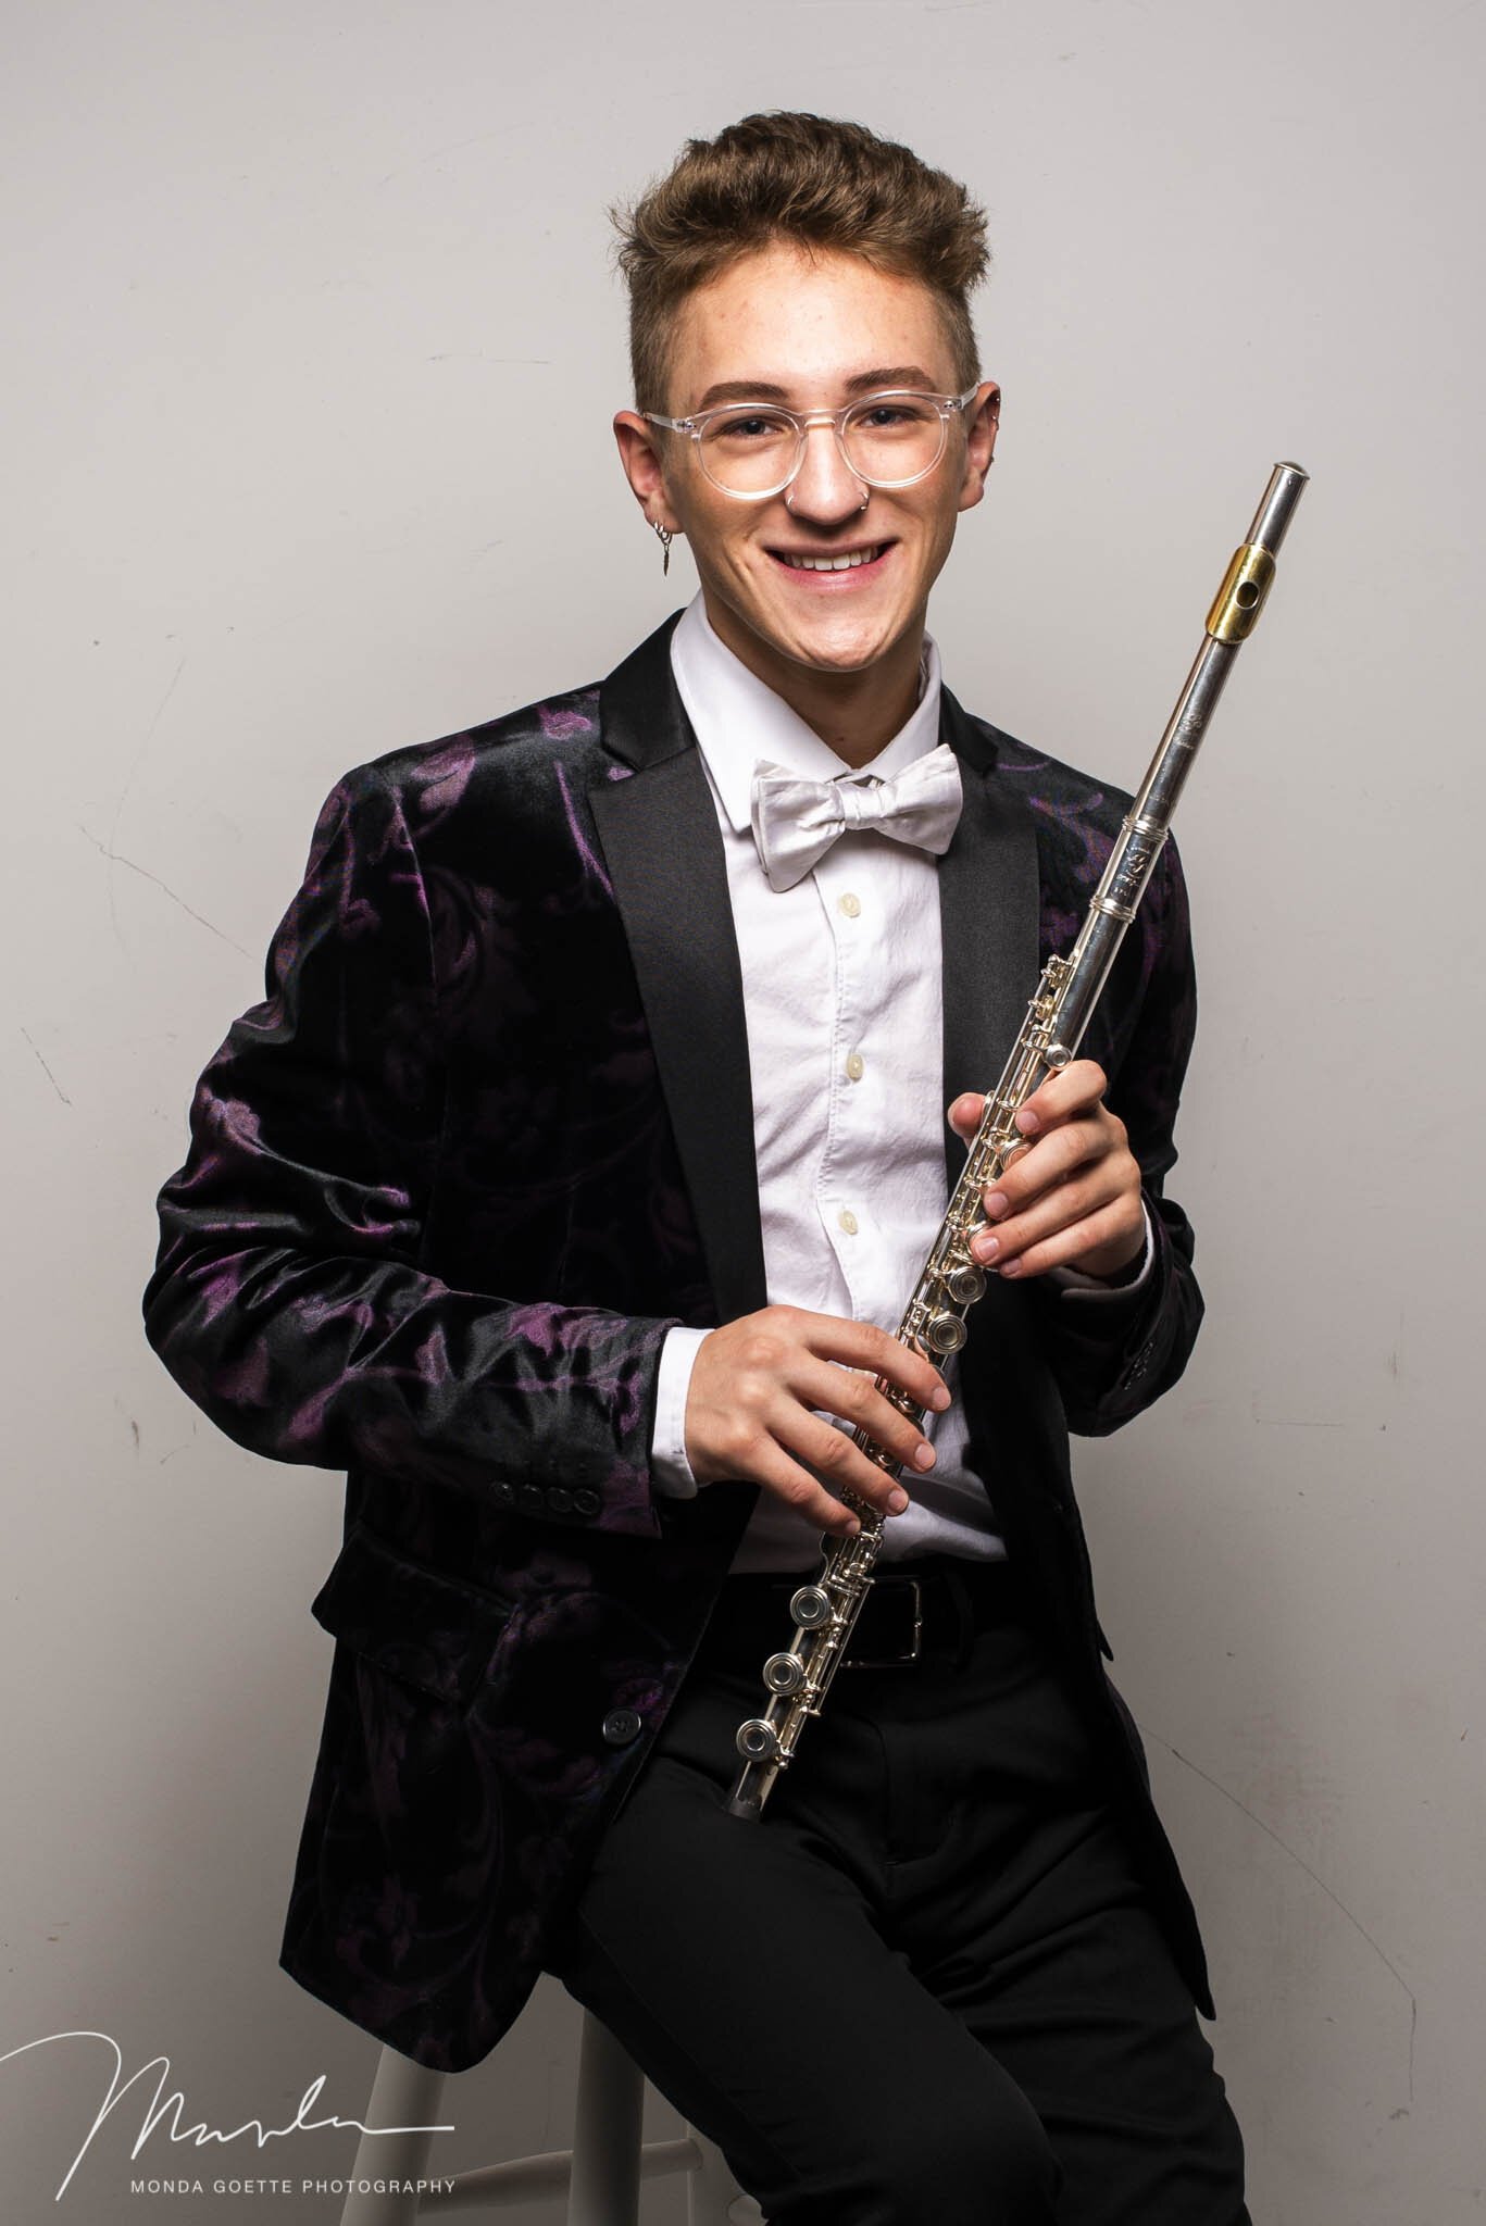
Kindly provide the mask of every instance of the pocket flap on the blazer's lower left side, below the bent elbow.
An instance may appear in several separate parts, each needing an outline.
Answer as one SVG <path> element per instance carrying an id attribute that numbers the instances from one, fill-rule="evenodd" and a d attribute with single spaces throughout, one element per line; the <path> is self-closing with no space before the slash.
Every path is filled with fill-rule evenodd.
<path id="1" fill-rule="evenodd" d="M 354 1523 L 310 1614 L 352 1654 L 461 1712 L 515 1607 L 495 1592 L 408 1560 L 365 1523 Z"/>

